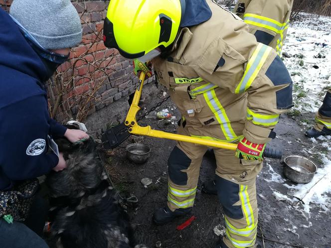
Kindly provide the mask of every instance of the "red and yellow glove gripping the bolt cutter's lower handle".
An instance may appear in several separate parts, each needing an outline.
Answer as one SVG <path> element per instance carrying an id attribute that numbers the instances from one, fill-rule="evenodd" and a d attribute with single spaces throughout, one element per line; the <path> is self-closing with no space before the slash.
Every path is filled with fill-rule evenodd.
<path id="1" fill-rule="evenodd" d="M 259 160 L 262 162 L 265 148 L 266 144 L 252 143 L 243 137 L 239 141 L 235 156 L 240 159 Z"/>

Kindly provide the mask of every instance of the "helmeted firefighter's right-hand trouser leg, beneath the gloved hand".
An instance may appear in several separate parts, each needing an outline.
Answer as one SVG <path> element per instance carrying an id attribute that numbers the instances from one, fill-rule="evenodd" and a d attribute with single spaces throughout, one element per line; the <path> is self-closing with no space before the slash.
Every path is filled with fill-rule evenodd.
<path id="1" fill-rule="evenodd" d="M 234 151 L 215 149 L 214 152 L 216 187 L 226 226 L 225 248 L 256 247 L 258 208 L 255 180 L 262 169 L 262 162 L 240 160 L 234 156 Z"/>

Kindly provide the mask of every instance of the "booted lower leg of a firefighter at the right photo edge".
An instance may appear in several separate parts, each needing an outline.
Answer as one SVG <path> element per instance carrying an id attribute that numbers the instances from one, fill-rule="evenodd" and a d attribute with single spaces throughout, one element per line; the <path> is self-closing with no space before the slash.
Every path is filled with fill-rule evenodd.
<path id="1" fill-rule="evenodd" d="M 331 135 L 331 89 L 328 90 L 323 105 L 316 113 L 314 128 L 307 130 L 305 135 L 310 138 Z"/>

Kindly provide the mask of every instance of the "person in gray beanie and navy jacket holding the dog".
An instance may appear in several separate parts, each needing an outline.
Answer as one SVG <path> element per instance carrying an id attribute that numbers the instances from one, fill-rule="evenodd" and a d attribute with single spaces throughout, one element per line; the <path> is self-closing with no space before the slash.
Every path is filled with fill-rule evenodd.
<path id="1" fill-rule="evenodd" d="M 44 82 L 82 39 L 70 0 L 14 0 L 0 8 L 0 247 L 47 248 L 37 177 L 66 168 L 53 137 L 89 136 L 49 117 Z"/>

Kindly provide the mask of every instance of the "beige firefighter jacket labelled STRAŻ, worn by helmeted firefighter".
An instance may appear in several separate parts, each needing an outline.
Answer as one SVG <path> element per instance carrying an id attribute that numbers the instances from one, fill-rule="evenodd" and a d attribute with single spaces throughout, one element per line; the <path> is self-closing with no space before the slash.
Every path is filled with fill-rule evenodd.
<path id="1" fill-rule="evenodd" d="M 292 81 L 276 52 L 257 43 L 235 14 L 207 0 L 212 17 L 182 28 L 167 59 L 154 59 L 191 136 L 254 143 L 270 140 L 292 107 Z"/>

